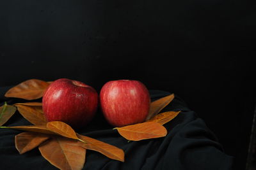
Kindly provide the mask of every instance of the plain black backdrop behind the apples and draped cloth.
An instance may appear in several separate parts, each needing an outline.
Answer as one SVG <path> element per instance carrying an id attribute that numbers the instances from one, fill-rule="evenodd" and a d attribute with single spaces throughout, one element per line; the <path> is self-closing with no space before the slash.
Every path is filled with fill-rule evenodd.
<path id="1" fill-rule="evenodd" d="M 0 1 L 0 86 L 140 80 L 182 97 L 244 169 L 255 105 L 255 3 Z"/>

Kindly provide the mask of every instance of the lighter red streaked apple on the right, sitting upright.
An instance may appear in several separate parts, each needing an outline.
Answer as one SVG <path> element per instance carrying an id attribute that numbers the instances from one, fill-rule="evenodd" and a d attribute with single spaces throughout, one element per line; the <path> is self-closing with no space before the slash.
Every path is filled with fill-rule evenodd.
<path id="1" fill-rule="evenodd" d="M 100 90 L 100 106 L 109 124 L 122 127 L 145 121 L 150 96 L 140 81 L 108 81 Z"/>

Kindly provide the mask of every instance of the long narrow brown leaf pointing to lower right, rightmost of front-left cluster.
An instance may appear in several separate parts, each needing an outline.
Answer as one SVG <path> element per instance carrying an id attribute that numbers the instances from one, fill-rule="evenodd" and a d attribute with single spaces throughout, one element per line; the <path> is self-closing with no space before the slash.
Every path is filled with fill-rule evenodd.
<path id="1" fill-rule="evenodd" d="M 106 157 L 109 157 L 110 159 L 124 162 L 124 151 L 122 149 L 117 148 L 113 145 L 109 145 L 108 143 L 98 141 L 97 139 L 89 138 L 87 136 L 83 136 L 80 134 L 77 134 L 77 136 L 85 142 L 81 143 L 81 146 L 83 148 L 100 152 Z"/>

